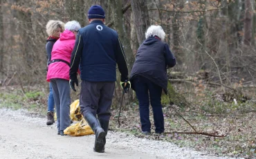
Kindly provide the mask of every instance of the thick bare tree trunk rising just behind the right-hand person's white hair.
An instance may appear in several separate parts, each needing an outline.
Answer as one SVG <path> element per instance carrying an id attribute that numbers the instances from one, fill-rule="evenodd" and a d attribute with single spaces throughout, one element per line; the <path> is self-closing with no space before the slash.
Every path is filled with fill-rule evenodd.
<path id="1" fill-rule="evenodd" d="M 142 44 L 145 40 L 145 32 L 150 25 L 149 13 L 147 11 L 147 1 L 131 0 L 131 8 L 135 19 L 138 44 Z"/>

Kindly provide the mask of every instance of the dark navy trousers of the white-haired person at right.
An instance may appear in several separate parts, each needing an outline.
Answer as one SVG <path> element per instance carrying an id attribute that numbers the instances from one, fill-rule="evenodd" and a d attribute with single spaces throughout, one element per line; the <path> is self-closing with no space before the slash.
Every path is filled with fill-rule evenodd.
<path id="1" fill-rule="evenodd" d="M 133 80 L 136 96 L 140 106 L 140 123 L 142 131 L 149 131 L 151 124 L 149 120 L 149 100 L 154 115 L 156 133 L 163 133 L 164 119 L 161 105 L 162 88 L 145 77 L 135 77 Z"/>

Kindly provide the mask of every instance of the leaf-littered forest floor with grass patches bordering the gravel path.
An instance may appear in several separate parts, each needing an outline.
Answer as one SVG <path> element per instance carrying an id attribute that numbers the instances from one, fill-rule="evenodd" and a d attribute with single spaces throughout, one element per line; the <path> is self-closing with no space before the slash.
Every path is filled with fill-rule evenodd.
<path id="1" fill-rule="evenodd" d="M 45 117 L 48 89 L 22 88 L 22 91 L 21 88 L 14 86 L 0 88 L 0 108 L 26 109 L 31 113 L 37 113 L 40 117 Z M 224 137 L 179 133 L 194 133 L 194 130 L 176 111 L 190 122 L 197 132 L 223 135 Z M 163 135 L 154 134 L 152 110 L 150 112 L 152 135 L 140 133 L 138 102 L 133 102 L 129 109 L 122 110 L 120 127 L 118 127 L 118 110 L 113 110 L 109 128 L 113 133 L 127 133 L 138 140 L 168 142 L 176 144 L 181 149 L 189 148 L 214 156 L 256 158 L 256 104 L 254 99 L 237 103 L 223 102 L 205 92 L 204 97 L 201 97 L 197 103 L 183 108 L 163 106 L 163 112 L 165 116 L 165 133 Z"/>

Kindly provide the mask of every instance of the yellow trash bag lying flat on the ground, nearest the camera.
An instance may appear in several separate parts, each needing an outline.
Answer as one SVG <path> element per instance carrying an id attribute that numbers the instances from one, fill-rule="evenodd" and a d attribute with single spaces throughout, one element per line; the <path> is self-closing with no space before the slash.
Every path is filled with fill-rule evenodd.
<path id="1" fill-rule="evenodd" d="M 80 122 L 77 124 L 73 124 L 70 127 L 67 127 L 64 130 L 64 134 L 66 135 L 73 135 L 73 136 L 81 136 L 81 135 L 91 135 L 94 134 L 93 130 L 87 124 L 87 122 L 82 118 Z"/>

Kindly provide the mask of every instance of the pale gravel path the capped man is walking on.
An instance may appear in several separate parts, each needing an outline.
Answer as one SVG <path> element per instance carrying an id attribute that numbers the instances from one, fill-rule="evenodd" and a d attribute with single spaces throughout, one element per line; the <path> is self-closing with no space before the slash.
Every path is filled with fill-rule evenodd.
<path id="1" fill-rule="evenodd" d="M 0 109 L 0 158 L 217 158 L 169 142 L 109 132 L 106 153 L 93 152 L 94 135 L 57 135 L 56 125 L 24 110 Z"/>

